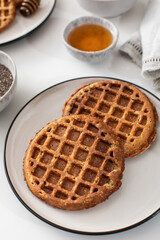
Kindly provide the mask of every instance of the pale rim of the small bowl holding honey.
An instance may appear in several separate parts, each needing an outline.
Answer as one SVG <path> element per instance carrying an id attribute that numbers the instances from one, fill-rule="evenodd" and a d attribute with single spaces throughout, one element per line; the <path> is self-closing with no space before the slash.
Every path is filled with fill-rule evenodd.
<path id="1" fill-rule="evenodd" d="M 78 21 L 78 20 L 80 20 L 80 19 L 84 19 L 84 18 L 87 18 L 88 20 L 92 20 L 92 19 L 98 19 L 98 20 L 102 20 L 102 21 L 104 21 L 104 22 L 106 22 L 106 23 L 108 23 L 108 24 L 110 24 L 110 26 L 115 30 L 115 35 L 113 36 L 113 42 L 112 42 L 112 44 L 111 45 L 109 45 L 108 47 L 106 47 L 106 48 L 104 48 L 104 49 L 102 49 L 102 50 L 99 50 L 99 51 L 82 51 L 82 50 L 79 50 L 79 49 L 77 49 L 77 48 L 75 48 L 75 47 L 72 47 L 67 41 L 66 41 L 66 39 L 65 39 L 65 32 L 66 32 L 66 29 L 71 25 L 71 24 L 73 24 L 73 23 L 75 23 L 76 21 Z M 87 22 L 88 23 L 88 22 Z M 80 25 L 83 25 L 83 24 L 85 24 L 85 22 L 84 23 L 82 23 L 82 24 L 80 24 Z M 79 25 L 79 26 L 80 26 Z M 97 25 L 98 25 L 98 23 L 97 23 Z M 99 24 L 99 25 L 101 25 L 101 24 Z M 103 26 L 103 27 L 105 27 L 105 26 Z M 78 18 L 76 18 L 76 19 L 74 19 L 74 20 L 72 20 L 71 22 L 69 22 L 68 24 L 67 24 L 67 26 L 65 27 L 65 29 L 64 29 L 64 31 L 63 31 L 63 41 L 64 41 L 64 43 L 65 43 L 65 45 L 66 46 L 68 46 L 70 49 L 72 49 L 73 51 L 76 51 L 76 52 L 79 52 L 79 53 L 83 53 L 83 54 L 90 54 L 90 55 L 94 55 L 95 53 L 103 53 L 103 52 L 106 52 L 106 51 L 109 51 L 110 49 L 112 49 L 115 45 L 116 45 L 116 43 L 117 43 L 117 40 L 118 40 L 118 37 L 119 37 L 119 31 L 118 31 L 118 29 L 117 29 L 117 27 L 114 25 L 114 23 L 112 23 L 110 20 L 108 20 L 108 19 L 105 19 L 105 18 L 103 18 L 103 17 L 97 17 L 97 16 L 82 16 L 82 17 L 78 17 Z"/>

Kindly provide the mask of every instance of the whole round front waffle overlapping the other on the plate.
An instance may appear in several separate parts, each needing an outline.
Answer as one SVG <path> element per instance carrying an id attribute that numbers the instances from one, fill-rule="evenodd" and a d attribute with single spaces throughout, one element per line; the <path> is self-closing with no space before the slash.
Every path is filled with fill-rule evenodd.
<path id="1" fill-rule="evenodd" d="M 26 151 L 24 175 L 33 194 L 53 207 L 86 209 L 118 190 L 123 155 L 101 120 L 72 115 L 37 133 Z"/>

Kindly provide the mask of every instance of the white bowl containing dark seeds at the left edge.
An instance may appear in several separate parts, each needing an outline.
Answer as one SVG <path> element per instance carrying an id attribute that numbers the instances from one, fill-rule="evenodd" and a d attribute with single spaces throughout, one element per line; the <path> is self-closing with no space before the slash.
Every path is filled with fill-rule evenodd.
<path id="1" fill-rule="evenodd" d="M 0 51 L 0 64 L 7 67 L 13 76 L 13 82 L 11 86 L 3 96 L 0 96 L 0 112 L 1 112 L 5 107 L 7 107 L 7 105 L 11 102 L 13 96 L 15 95 L 17 87 L 17 70 L 15 63 L 13 62 L 11 57 L 2 51 Z"/>

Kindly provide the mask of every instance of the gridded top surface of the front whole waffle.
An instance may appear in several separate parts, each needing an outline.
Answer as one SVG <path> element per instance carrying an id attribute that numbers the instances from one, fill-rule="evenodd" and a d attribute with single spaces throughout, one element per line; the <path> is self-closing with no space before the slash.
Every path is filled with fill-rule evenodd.
<path id="1" fill-rule="evenodd" d="M 117 148 L 107 135 L 87 121 L 67 118 L 56 127 L 49 125 L 34 141 L 29 158 L 32 184 L 40 194 L 69 201 L 97 193 L 103 185 L 113 189 L 114 174 L 122 169 L 114 157 Z"/>

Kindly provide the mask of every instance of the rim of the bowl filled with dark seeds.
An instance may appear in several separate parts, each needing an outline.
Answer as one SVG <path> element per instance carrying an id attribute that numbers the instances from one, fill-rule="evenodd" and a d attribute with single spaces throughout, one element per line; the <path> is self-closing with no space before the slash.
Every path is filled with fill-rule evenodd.
<path id="1" fill-rule="evenodd" d="M 8 88 L 8 90 L 6 91 L 6 93 L 3 94 L 2 96 L 0 96 L 0 101 L 1 101 L 3 98 L 5 98 L 5 97 L 8 95 L 8 93 L 11 91 L 11 89 L 13 88 L 13 85 L 15 84 L 15 82 L 16 82 L 16 80 L 17 80 L 17 68 L 16 68 L 16 65 L 15 65 L 13 59 L 12 59 L 7 53 L 5 53 L 5 52 L 3 52 L 3 51 L 0 50 L 0 55 L 4 55 L 5 57 L 7 57 L 7 58 L 9 59 L 9 61 L 11 62 L 12 66 L 13 66 L 13 69 L 14 69 L 14 75 L 12 74 L 12 76 L 13 76 L 12 84 L 11 84 L 11 86 Z M 0 64 L 1 64 L 1 62 L 0 62 Z M 4 65 L 4 64 L 2 64 L 2 65 Z M 5 65 L 4 65 L 4 66 L 5 66 Z M 9 71 L 10 71 L 10 69 L 9 69 Z"/>

